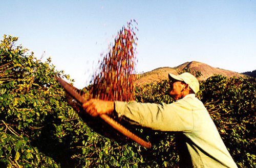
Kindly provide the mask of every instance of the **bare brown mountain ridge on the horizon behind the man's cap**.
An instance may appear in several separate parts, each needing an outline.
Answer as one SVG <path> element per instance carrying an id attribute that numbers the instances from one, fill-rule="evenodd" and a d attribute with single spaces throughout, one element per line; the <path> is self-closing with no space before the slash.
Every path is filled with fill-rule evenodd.
<path id="1" fill-rule="evenodd" d="M 138 79 L 136 80 L 136 85 L 143 85 L 152 82 L 158 83 L 162 80 L 168 79 L 169 73 L 178 75 L 178 71 L 184 70 L 186 68 L 191 69 L 192 71 L 200 71 L 202 76 L 198 78 L 199 81 L 204 81 L 215 74 L 219 74 L 226 77 L 247 77 L 246 74 L 239 74 L 230 70 L 215 68 L 205 63 L 192 61 L 185 62 L 176 67 L 160 67 L 147 73 L 139 74 Z"/>

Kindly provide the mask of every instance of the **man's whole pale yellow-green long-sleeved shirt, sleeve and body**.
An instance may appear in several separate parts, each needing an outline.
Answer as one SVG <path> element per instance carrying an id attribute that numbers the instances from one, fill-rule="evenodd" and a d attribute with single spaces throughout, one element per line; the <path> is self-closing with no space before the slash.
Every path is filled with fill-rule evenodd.
<path id="1" fill-rule="evenodd" d="M 115 102 L 118 116 L 159 131 L 180 132 L 181 167 L 237 167 L 203 103 L 188 94 L 171 104 Z M 187 152 L 185 152 L 187 151 Z"/>

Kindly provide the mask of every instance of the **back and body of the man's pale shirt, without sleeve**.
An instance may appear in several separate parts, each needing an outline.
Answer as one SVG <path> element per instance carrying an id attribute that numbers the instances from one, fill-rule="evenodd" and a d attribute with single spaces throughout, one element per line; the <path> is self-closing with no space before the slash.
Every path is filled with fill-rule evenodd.
<path id="1" fill-rule="evenodd" d="M 187 103 L 193 113 L 193 131 L 183 133 L 185 135 L 183 142 L 186 144 L 193 166 L 237 167 L 203 103 L 191 96 L 180 101 Z"/>

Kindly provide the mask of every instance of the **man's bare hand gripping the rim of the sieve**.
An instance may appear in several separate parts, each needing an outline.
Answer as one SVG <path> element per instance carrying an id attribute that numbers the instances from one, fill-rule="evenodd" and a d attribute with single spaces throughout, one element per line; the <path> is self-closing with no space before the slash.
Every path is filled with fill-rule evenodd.
<path id="1" fill-rule="evenodd" d="M 88 102 L 83 103 L 82 107 L 92 116 L 111 114 L 114 111 L 114 102 L 90 99 Z"/>

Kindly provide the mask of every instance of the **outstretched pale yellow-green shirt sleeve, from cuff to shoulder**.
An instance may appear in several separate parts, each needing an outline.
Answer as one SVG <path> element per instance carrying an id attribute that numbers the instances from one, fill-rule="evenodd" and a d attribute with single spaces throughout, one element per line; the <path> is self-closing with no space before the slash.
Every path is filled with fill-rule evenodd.
<path id="1" fill-rule="evenodd" d="M 115 101 L 118 116 L 125 116 L 132 124 L 159 131 L 191 132 L 193 113 L 186 102 L 153 104 Z"/>

